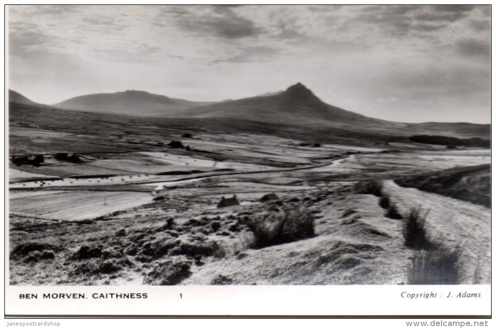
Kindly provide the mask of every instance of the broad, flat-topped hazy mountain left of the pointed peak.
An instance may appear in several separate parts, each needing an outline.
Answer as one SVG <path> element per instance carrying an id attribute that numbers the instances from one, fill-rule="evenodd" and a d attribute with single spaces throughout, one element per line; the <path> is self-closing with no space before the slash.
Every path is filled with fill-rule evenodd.
<path id="1" fill-rule="evenodd" d="M 142 117 L 170 116 L 184 109 L 211 104 L 174 99 L 145 91 L 127 90 L 115 93 L 97 93 L 74 97 L 53 105 L 75 111 L 120 114 Z"/>

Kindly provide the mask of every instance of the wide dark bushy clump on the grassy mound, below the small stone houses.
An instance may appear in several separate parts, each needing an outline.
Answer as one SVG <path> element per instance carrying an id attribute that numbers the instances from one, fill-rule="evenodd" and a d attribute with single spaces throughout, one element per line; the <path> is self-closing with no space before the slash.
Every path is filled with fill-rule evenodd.
<path id="1" fill-rule="evenodd" d="M 248 227 L 253 232 L 253 248 L 291 243 L 315 236 L 313 216 L 307 210 L 285 208 L 282 213 L 271 212 L 252 219 Z"/>

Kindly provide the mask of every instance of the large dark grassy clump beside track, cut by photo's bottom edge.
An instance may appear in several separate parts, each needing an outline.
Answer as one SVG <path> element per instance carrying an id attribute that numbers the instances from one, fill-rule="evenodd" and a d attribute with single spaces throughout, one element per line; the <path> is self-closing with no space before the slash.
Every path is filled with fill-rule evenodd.
<path id="1" fill-rule="evenodd" d="M 429 250 L 420 250 L 408 268 L 408 284 L 453 285 L 460 283 L 458 248 L 450 250 L 436 245 Z"/>

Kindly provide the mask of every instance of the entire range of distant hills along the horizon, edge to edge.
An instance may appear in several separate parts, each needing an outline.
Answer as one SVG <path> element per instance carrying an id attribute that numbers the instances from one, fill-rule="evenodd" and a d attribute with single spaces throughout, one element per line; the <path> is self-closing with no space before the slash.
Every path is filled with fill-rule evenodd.
<path id="1" fill-rule="evenodd" d="M 15 104 L 19 104 L 37 107 L 37 110 L 57 108 L 65 112 L 194 119 L 197 123 L 205 119 L 205 122 L 215 121 L 233 127 L 247 126 L 247 122 L 252 122 L 255 126 L 265 127 L 265 131 L 286 126 L 330 134 L 335 129 L 371 136 L 429 134 L 488 139 L 491 130 L 491 125 L 473 123 L 415 124 L 374 119 L 326 104 L 302 83 L 296 83 L 280 92 L 217 103 L 193 102 L 136 90 L 79 96 L 52 106 L 35 103 L 18 92 L 9 90 L 9 102 L 12 111 L 18 110 L 20 107 Z"/>

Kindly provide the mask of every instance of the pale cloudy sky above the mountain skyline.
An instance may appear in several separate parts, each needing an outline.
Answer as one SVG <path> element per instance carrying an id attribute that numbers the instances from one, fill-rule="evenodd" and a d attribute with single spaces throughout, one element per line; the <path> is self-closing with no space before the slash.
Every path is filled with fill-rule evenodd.
<path id="1" fill-rule="evenodd" d="M 10 5 L 8 24 L 8 86 L 44 104 L 301 82 L 374 118 L 491 122 L 489 5 Z"/>

